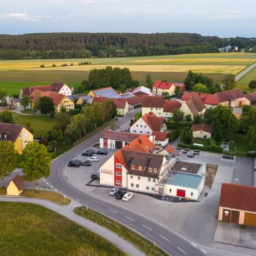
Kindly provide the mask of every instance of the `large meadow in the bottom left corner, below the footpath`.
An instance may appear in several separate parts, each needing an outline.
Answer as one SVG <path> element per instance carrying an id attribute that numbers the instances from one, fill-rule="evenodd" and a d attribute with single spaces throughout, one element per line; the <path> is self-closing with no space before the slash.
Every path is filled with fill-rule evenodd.
<path id="1" fill-rule="evenodd" d="M 1 256 L 125 256 L 109 241 L 42 206 L 0 202 Z"/>

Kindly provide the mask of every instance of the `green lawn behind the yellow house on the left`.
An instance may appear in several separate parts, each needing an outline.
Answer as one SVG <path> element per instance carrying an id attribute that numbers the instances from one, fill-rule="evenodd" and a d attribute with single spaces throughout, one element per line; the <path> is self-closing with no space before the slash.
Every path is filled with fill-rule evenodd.
<path id="1" fill-rule="evenodd" d="M 47 131 L 52 129 L 52 126 L 55 124 L 50 116 L 20 115 L 13 113 L 13 117 L 16 125 L 26 125 L 26 123 L 29 122 L 34 132 L 34 138 L 44 135 Z"/>

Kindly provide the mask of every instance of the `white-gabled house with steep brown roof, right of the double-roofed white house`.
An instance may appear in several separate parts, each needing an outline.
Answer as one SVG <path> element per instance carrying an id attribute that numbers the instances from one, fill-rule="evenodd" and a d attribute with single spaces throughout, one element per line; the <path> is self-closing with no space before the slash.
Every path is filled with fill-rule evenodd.
<path id="1" fill-rule="evenodd" d="M 180 107 L 180 110 L 182 110 L 185 115 L 191 115 L 192 117 L 196 114 L 203 114 L 205 109 L 206 107 L 199 96 L 189 99 Z"/>

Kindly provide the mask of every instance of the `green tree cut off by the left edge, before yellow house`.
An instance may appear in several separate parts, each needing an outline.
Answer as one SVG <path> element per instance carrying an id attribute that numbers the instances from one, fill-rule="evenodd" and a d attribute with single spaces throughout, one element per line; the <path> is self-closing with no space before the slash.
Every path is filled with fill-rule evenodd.
<path id="1" fill-rule="evenodd" d="M 12 141 L 0 141 L 0 177 L 2 187 L 4 187 L 3 178 L 10 175 L 17 167 L 17 151 L 14 149 Z"/>

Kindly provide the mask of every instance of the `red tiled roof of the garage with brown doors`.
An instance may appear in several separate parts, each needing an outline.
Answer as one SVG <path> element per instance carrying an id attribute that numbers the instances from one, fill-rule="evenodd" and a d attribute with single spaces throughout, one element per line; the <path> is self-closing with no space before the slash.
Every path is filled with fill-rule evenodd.
<path id="1" fill-rule="evenodd" d="M 256 187 L 222 183 L 219 206 L 256 212 Z"/>

